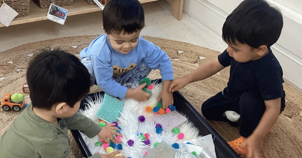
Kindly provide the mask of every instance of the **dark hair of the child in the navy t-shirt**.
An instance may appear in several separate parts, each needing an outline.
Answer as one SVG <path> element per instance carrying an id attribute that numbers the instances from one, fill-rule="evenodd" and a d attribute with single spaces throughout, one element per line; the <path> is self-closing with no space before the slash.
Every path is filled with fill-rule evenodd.
<path id="1" fill-rule="evenodd" d="M 230 44 L 237 40 L 253 48 L 270 47 L 277 42 L 282 27 L 282 14 L 277 8 L 264 0 L 244 0 L 227 16 L 222 38 Z"/>

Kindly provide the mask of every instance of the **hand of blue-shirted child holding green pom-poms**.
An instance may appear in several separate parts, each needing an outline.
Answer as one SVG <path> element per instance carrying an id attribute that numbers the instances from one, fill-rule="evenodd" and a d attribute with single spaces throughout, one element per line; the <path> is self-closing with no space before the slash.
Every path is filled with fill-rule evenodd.
<path id="1" fill-rule="evenodd" d="M 125 98 L 133 98 L 139 102 L 149 100 L 151 95 L 142 90 L 146 86 L 146 84 L 147 83 L 143 83 L 134 89 L 128 88 Z"/>

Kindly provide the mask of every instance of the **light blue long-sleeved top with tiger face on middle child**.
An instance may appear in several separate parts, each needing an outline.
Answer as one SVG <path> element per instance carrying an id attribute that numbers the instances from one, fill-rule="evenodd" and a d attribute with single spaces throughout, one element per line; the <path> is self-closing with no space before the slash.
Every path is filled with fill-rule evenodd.
<path id="1" fill-rule="evenodd" d="M 128 67 L 133 66 L 133 63 L 137 65 L 140 62 L 144 62 L 151 69 L 160 70 L 162 81 L 173 79 L 172 63 L 167 53 L 141 36 L 133 50 L 127 54 L 122 54 L 114 50 L 108 36 L 102 34 L 81 51 L 80 60 L 85 57 L 91 58 L 98 87 L 102 91 L 116 97 L 124 98 L 127 87 L 120 85 L 112 78 L 112 76 L 116 75 L 113 68 L 126 70 Z"/>

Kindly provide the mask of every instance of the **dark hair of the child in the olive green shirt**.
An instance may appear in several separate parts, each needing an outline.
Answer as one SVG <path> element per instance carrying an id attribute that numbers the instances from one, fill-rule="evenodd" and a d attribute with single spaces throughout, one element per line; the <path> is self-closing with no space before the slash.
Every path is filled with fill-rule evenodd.
<path id="1" fill-rule="evenodd" d="M 26 74 L 33 107 L 51 110 L 66 102 L 73 108 L 90 88 L 87 68 L 74 55 L 45 48 L 30 62 Z"/>

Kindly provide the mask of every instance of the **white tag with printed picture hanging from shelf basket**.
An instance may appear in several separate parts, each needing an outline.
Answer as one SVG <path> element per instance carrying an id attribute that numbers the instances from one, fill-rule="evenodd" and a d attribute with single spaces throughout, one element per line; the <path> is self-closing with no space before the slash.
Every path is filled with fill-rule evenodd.
<path id="1" fill-rule="evenodd" d="M 67 17 L 67 12 L 68 10 L 51 3 L 46 18 L 51 21 L 64 25 Z"/>

